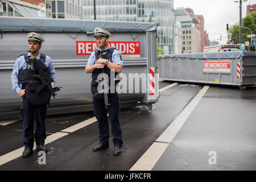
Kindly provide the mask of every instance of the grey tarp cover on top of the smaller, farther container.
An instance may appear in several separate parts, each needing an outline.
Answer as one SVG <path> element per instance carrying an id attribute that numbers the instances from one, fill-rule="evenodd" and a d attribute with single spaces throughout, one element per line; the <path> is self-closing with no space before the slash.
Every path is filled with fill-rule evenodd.
<path id="1" fill-rule="evenodd" d="M 242 57 L 256 57 L 256 52 L 214 52 L 214 53 L 184 53 L 179 55 L 158 55 L 158 58 L 190 58 L 190 59 L 239 59 Z"/>

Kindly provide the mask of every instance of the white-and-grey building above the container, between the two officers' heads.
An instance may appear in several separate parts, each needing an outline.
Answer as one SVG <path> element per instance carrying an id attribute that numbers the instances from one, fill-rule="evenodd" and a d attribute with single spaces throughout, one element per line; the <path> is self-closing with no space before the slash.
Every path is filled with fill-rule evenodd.
<path id="1" fill-rule="evenodd" d="M 84 0 L 46 0 L 46 12 L 51 18 L 82 19 Z"/>

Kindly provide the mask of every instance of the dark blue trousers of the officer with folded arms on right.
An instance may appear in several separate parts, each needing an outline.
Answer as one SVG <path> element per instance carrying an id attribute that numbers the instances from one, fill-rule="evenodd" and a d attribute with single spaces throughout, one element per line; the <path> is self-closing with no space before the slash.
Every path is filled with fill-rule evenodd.
<path id="1" fill-rule="evenodd" d="M 108 109 L 106 109 L 104 100 L 93 98 L 93 112 L 98 120 L 100 143 L 109 145 L 109 121 L 107 117 L 109 113 L 114 146 L 122 147 L 122 129 L 119 123 L 120 101 L 117 93 L 110 94 L 109 104 Z"/>

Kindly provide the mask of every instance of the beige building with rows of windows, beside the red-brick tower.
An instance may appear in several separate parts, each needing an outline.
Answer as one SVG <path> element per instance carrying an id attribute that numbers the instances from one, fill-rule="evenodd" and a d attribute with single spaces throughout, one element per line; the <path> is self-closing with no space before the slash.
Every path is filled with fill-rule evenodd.
<path id="1" fill-rule="evenodd" d="M 191 16 L 183 7 L 175 10 L 175 20 L 181 22 L 183 53 L 201 52 L 201 33 L 195 27 L 199 23 L 196 16 Z"/>

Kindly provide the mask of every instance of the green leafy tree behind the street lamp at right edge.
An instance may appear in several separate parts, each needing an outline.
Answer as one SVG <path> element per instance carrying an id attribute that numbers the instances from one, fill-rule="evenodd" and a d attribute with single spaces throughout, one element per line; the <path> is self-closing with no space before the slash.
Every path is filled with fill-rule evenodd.
<path id="1" fill-rule="evenodd" d="M 239 26 L 239 23 L 236 25 Z M 253 34 L 256 32 L 256 13 L 251 12 L 242 21 L 243 27 L 248 27 L 253 31 Z M 242 42 L 251 41 L 251 38 L 247 38 L 247 35 L 251 34 L 250 30 L 242 28 Z M 239 43 L 239 27 L 233 26 L 228 30 L 228 39 L 233 44 Z"/>

